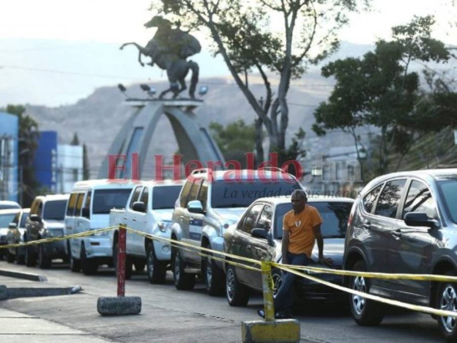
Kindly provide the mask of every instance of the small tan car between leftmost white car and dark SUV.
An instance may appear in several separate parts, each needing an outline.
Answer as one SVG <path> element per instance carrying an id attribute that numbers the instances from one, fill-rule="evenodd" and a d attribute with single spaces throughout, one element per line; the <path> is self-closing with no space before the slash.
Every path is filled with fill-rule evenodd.
<path id="1" fill-rule="evenodd" d="M 8 227 L 7 244 L 17 244 L 24 242 L 25 222 L 27 220 L 29 208 L 23 208 L 16 213 L 14 220 Z M 8 262 L 17 264 L 25 263 L 25 247 L 12 247 L 8 250 Z"/>

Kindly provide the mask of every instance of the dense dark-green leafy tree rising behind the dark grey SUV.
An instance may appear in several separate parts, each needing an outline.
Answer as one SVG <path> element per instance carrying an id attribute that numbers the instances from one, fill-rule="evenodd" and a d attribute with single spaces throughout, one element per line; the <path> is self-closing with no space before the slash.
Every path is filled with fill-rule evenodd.
<path id="1" fill-rule="evenodd" d="M 375 51 L 363 58 L 329 63 L 322 75 L 337 80 L 326 103 L 315 111 L 313 130 L 324 135 L 328 129 L 349 132 L 357 149 L 365 150 L 356 129 L 372 125 L 380 130 L 377 142 L 377 173 L 389 168 L 389 155 L 404 155 L 426 132 L 438 131 L 446 122 L 436 120 L 432 103 L 419 88 L 419 76 L 410 72 L 412 61 L 447 61 L 449 52 L 441 41 L 431 38 L 432 16 L 414 17 L 407 25 L 392 28 L 390 42 L 379 40 Z M 360 148 L 359 148 L 360 147 Z"/>

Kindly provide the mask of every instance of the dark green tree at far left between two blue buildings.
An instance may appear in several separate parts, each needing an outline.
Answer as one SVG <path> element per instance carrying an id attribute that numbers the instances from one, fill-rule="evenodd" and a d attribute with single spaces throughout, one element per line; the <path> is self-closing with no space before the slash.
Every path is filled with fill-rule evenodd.
<path id="1" fill-rule="evenodd" d="M 10 114 L 19 117 L 19 179 L 22 179 L 20 192 L 23 194 L 22 207 L 32 204 L 35 195 L 38 194 L 38 182 L 35 178 L 33 161 L 35 150 L 38 147 L 40 133 L 38 123 L 29 115 L 25 115 L 25 107 L 22 105 L 8 105 L 5 109 Z"/>

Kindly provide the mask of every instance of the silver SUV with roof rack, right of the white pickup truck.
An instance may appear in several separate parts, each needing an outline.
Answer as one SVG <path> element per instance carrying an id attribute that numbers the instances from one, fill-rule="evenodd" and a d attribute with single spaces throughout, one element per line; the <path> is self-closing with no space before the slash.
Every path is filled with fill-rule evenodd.
<path id="1" fill-rule="evenodd" d="M 171 238 L 222 252 L 224 232 L 254 200 L 297 189 L 302 186 L 296 178 L 280 169 L 194 170 L 176 200 Z M 202 274 L 209 295 L 224 294 L 223 262 L 173 247 L 171 263 L 177 289 L 192 289 Z"/>

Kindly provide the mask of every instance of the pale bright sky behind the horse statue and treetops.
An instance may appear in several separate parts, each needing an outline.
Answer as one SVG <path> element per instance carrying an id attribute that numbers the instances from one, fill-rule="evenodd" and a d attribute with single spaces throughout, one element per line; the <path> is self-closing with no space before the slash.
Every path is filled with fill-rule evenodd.
<path id="1" fill-rule="evenodd" d="M 153 13 L 150 0 L 0 0 L 0 107 L 7 103 L 59 106 L 87 97 L 95 88 L 119 82 L 165 80 L 158 68 L 136 63 L 133 47 L 153 35 L 143 24 Z M 413 15 L 434 14 L 434 37 L 448 43 L 449 22 L 457 20 L 452 0 L 373 0 L 369 13 L 353 14 L 340 32 L 342 41 L 373 44 L 388 39 L 390 27 L 405 24 Z M 454 30 L 455 32 L 455 30 Z M 213 59 L 200 33 L 203 51 L 192 59 L 202 77 L 227 76 L 221 58 Z"/>

